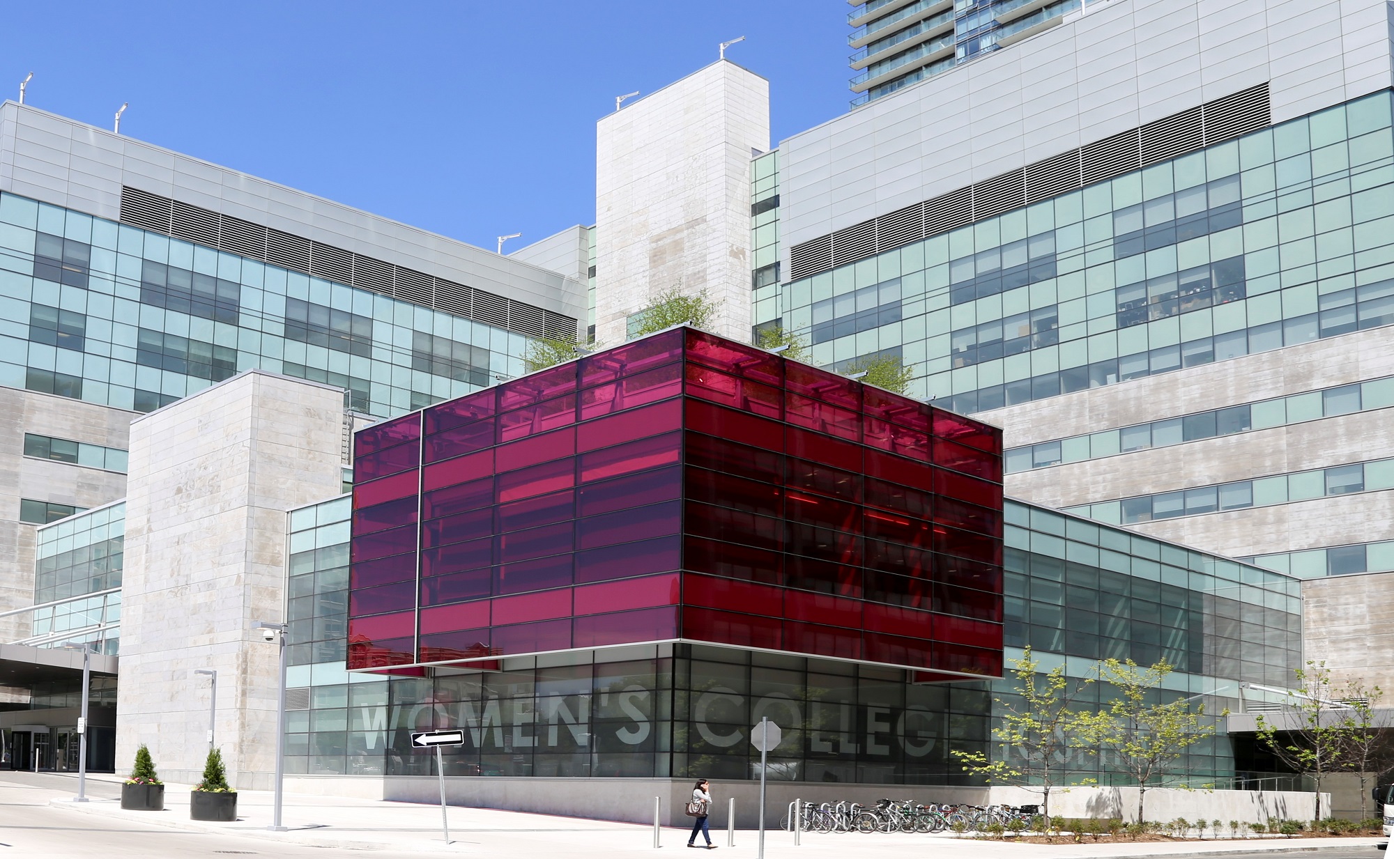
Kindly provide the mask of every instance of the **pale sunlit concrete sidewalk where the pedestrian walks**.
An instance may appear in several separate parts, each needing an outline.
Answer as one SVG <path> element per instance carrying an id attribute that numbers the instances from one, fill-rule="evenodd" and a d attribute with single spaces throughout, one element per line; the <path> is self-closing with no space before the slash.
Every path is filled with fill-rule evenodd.
<path id="1" fill-rule="evenodd" d="M 105 781 L 105 780 L 103 780 Z M 117 800 L 96 799 L 88 803 L 71 802 L 71 793 L 54 796 L 50 805 L 74 813 L 120 819 L 142 824 L 167 826 L 181 830 L 243 835 L 248 839 L 294 842 L 302 845 L 361 849 L 361 851 L 407 851 L 407 852 L 457 852 L 475 856 L 499 856 L 519 859 L 520 856 L 594 856 L 598 853 L 652 853 L 654 830 L 651 826 L 581 820 L 574 817 L 552 817 L 500 812 L 495 809 L 471 809 L 452 806 L 449 809 L 450 835 L 453 844 L 445 844 L 441 831 L 441 807 L 348 799 L 337 796 L 286 795 L 283 823 L 286 833 L 272 833 L 266 827 L 272 821 L 272 793 L 263 791 L 243 791 L 238 793 L 238 820 L 236 823 L 204 823 L 188 819 L 188 785 L 166 785 L 164 812 L 125 812 Z M 57 793 L 57 792 L 54 792 Z M 661 844 L 664 851 L 683 849 L 686 830 L 664 828 Z M 726 846 L 726 833 L 714 831 L 712 841 L 729 855 L 754 856 L 757 834 L 750 830 L 736 833 L 736 846 Z M 802 846 L 795 846 L 793 834 L 769 831 L 765 834 L 765 852 L 772 858 L 795 858 L 800 855 L 838 855 L 848 859 L 873 859 L 884 856 L 923 858 L 927 849 L 938 853 L 952 853 L 962 859 L 1025 859 L 1047 856 L 1050 859 L 1104 859 L 1119 856 L 1144 859 L 1158 856 L 1181 859 L 1182 856 L 1223 856 L 1225 853 L 1249 852 L 1312 852 L 1312 851 L 1368 851 L 1380 838 L 1246 838 L 1224 841 L 1150 842 L 1150 844 L 1069 844 L 1069 845 L 1018 845 L 998 841 L 965 839 L 952 835 L 885 835 L 885 834 L 829 834 L 804 833 Z"/>

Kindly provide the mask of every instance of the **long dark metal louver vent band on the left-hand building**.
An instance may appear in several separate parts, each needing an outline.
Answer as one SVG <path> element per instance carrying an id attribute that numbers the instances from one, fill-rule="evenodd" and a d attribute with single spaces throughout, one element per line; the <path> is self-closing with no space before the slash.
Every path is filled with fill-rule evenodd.
<path id="1" fill-rule="evenodd" d="M 570 340 L 577 333 L 577 321 L 565 314 L 128 185 L 121 188 L 121 223 L 392 296 L 399 301 L 530 337 L 555 336 Z"/>

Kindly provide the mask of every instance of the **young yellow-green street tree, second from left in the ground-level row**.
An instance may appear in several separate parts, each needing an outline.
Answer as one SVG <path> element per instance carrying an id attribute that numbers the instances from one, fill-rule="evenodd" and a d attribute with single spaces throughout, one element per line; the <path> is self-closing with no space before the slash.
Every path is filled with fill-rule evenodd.
<path id="1" fill-rule="evenodd" d="M 1146 820 L 1143 799 L 1147 785 L 1165 780 L 1167 770 L 1186 749 L 1211 736 L 1214 725 L 1204 725 L 1204 706 L 1190 708 L 1190 701 L 1178 697 L 1168 703 L 1153 703 L 1163 681 L 1172 672 L 1160 661 L 1150 668 L 1139 668 L 1128 660 L 1107 660 L 1098 664 L 1098 682 L 1108 683 L 1118 694 L 1097 713 L 1082 714 L 1079 735 L 1094 750 L 1112 753 L 1112 764 L 1138 782 L 1138 821 Z"/>

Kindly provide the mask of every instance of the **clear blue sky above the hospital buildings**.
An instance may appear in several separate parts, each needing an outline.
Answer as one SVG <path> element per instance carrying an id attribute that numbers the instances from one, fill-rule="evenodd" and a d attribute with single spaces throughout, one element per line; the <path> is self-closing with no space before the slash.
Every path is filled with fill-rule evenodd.
<path id="1" fill-rule="evenodd" d="M 595 120 L 717 59 L 846 110 L 842 0 L 13 3 L 0 96 L 481 247 L 595 213 Z"/>

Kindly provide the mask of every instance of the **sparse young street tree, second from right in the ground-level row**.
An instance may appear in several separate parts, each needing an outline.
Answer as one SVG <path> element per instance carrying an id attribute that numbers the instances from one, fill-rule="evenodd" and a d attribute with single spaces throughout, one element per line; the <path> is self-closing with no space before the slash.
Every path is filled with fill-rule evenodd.
<path id="1" fill-rule="evenodd" d="M 1351 739 L 1351 707 L 1333 700 L 1326 662 L 1308 660 L 1296 669 L 1298 687 L 1288 690 L 1281 721 L 1257 717 L 1257 739 L 1294 771 L 1312 775 L 1312 820 L 1322 819 L 1322 781 L 1342 768 Z"/>

